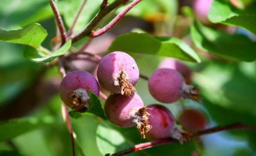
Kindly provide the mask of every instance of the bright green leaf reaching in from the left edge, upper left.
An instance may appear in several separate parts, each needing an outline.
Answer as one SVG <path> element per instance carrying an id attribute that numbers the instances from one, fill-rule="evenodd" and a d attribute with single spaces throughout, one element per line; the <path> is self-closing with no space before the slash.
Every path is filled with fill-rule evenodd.
<path id="1" fill-rule="evenodd" d="M 5 31 L 0 29 L 0 41 L 24 44 L 34 48 L 39 48 L 46 36 L 46 30 L 38 23 L 30 24 L 18 30 Z"/>

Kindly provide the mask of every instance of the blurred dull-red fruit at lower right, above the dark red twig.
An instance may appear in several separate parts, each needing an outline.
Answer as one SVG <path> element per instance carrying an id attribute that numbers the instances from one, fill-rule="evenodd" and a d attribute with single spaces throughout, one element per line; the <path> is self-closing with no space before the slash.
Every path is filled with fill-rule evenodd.
<path id="1" fill-rule="evenodd" d="M 181 125 L 189 132 L 204 130 L 207 125 L 207 118 L 205 114 L 195 109 L 184 110 L 178 119 Z"/>

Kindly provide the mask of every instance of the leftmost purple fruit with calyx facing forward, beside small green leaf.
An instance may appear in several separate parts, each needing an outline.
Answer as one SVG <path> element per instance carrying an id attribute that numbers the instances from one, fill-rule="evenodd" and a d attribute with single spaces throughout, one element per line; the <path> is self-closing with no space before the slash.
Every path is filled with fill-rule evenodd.
<path id="1" fill-rule="evenodd" d="M 60 97 L 72 109 L 84 112 L 88 108 L 89 90 L 98 96 L 96 79 L 87 71 L 73 71 L 62 79 Z"/>

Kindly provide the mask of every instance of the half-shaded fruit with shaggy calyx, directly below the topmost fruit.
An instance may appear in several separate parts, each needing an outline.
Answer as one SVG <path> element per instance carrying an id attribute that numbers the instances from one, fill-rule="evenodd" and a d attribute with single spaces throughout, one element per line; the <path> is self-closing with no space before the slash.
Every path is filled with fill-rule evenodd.
<path id="1" fill-rule="evenodd" d="M 137 127 L 144 137 L 151 126 L 148 125 L 147 108 L 138 94 L 124 96 L 121 94 L 112 94 L 105 101 L 105 114 L 108 120 L 120 127 Z"/>

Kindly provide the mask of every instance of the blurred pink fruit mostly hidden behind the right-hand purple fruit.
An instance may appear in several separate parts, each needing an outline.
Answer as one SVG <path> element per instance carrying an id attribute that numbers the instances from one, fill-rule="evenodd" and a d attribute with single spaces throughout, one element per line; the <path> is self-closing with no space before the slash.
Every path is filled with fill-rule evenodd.
<path id="1" fill-rule="evenodd" d="M 187 65 L 173 58 L 166 58 L 159 65 L 159 68 L 170 68 L 177 70 L 184 77 L 186 84 L 191 84 L 191 70 Z"/>

